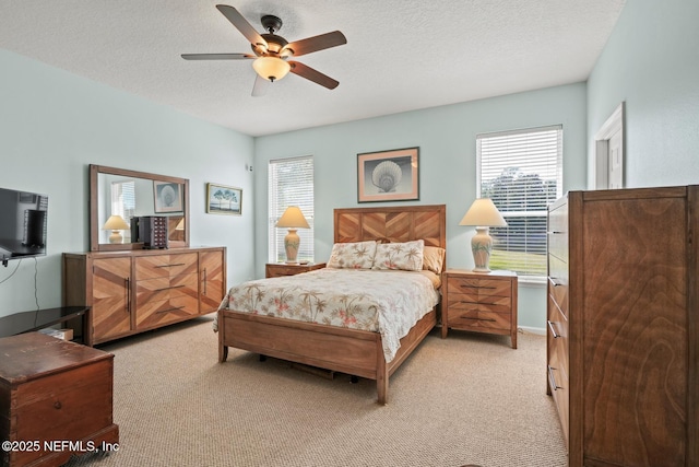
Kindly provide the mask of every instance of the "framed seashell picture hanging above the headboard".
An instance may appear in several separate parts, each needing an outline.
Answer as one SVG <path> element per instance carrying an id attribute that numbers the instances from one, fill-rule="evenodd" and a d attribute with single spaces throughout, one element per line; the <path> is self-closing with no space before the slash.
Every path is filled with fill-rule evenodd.
<path id="1" fill-rule="evenodd" d="M 357 154 L 357 202 L 419 200 L 419 148 Z"/>

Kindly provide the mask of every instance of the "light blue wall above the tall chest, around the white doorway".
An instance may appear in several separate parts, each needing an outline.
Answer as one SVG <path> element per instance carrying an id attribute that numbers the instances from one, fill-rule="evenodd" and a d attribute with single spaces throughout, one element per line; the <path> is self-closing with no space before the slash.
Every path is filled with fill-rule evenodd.
<path id="1" fill-rule="evenodd" d="M 628 0 L 590 77 L 589 141 L 626 102 L 626 187 L 699 184 L 698 22 L 697 0 Z"/>

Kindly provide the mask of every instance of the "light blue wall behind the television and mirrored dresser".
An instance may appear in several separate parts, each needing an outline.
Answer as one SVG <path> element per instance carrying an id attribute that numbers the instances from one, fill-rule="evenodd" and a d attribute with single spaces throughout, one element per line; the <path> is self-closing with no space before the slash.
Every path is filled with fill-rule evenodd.
<path id="1" fill-rule="evenodd" d="M 61 253 L 90 248 L 88 164 L 189 178 L 191 244 L 227 246 L 230 283 L 249 276 L 251 137 L 3 49 L 0 70 L 0 187 L 49 196 L 42 308 L 61 305 Z M 206 214 L 208 182 L 242 188 L 242 215 Z M 0 316 L 36 310 L 34 270 L 34 259 L 0 267 Z"/>

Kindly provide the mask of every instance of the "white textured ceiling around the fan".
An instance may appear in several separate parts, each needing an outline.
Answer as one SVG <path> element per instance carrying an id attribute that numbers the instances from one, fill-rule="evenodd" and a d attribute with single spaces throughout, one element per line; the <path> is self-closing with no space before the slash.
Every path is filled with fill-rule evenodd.
<path id="1" fill-rule="evenodd" d="M 296 59 L 340 81 L 335 90 L 289 74 L 261 97 L 251 61 L 180 58 L 250 52 L 215 1 L 0 1 L 0 47 L 261 136 L 584 81 L 624 2 L 225 2 L 259 32 L 260 16 L 280 16 L 289 42 L 347 37 Z"/>

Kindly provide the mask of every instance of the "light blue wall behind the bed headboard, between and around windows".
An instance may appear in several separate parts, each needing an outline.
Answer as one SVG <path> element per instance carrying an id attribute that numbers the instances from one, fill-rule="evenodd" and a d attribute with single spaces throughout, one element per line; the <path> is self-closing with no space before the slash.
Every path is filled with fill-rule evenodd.
<path id="1" fill-rule="evenodd" d="M 405 205 L 447 205 L 447 264 L 452 268 L 473 268 L 470 248 L 473 230 L 459 226 L 459 221 L 476 194 L 476 135 L 562 124 L 564 189 L 582 189 L 587 183 L 585 114 L 585 85 L 578 83 L 257 138 L 257 237 L 265 238 L 268 232 L 270 160 L 313 156 L 316 260 L 323 261 L 330 256 L 333 243 L 333 209 L 359 206 L 357 154 L 419 147 L 420 199 Z M 256 243 L 258 277 L 263 276 L 266 259 L 266 242 L 259 241 Z M 520 283 L 519 325 L 543 328 L 545 308 L 544 285 Z"/>

